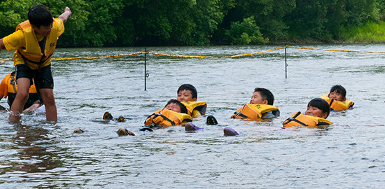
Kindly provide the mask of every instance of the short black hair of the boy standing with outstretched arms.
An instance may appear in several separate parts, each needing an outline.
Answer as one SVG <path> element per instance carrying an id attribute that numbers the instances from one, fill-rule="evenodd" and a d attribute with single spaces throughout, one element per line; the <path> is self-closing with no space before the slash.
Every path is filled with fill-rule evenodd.
<path id="1" fill-rule="evenodd" d="M 53 22 L 52 13 L 45 5 L 32 7 L 28 12 L 28 20 L 35 27 L 40 27 L 41 25 L 47 27 Z"/>

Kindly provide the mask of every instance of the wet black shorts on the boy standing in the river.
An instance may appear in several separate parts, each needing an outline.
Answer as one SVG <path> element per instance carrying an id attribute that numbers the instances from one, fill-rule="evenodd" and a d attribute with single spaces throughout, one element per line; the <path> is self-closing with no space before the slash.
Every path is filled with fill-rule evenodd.
<path id="1" fill-rule="evenodd" d="M 38 89 L 53 89 L 53 78 L 51 73 L 51 64 L 44 66 L 41 69 L 30 69 L 25 64 L 16 66 L 16 80 L 18 78 L 29 78 L 32 83 L 32 78 L 35 80 L 36 90 Z"/>

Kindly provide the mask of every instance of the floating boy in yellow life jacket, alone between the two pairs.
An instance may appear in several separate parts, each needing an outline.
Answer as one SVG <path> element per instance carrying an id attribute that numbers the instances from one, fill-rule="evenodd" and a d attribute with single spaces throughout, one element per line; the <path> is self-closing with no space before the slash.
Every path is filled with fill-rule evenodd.
<path id="1" fill-rule="evenodd" d="M 236 111 L 231 118 L 235 119 L 265 119 L 279 116 L 279 109 L 272 106 L 274 95 L 265 88 L 255 88 L 249 104 Z"/>

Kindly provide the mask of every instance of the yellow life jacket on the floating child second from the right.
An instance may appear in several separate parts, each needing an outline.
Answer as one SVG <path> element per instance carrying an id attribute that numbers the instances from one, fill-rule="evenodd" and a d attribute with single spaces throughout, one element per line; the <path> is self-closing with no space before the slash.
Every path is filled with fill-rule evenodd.
<path id="1" fill-rule="evenodd" d="M 307 116 L 302 114 L 300 111 L 293 113 L 290 118 L 286 119 L 282 123 L 283 127 L 305 126 L 309 128 L 317 128 L 317 126 L 330 124 L 332 123 L 329 120 L 315 116 Z"/>

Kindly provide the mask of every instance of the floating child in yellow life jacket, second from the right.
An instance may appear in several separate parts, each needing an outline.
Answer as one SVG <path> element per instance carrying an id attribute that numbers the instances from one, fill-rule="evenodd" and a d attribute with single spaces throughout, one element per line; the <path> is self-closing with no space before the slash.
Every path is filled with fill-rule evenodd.
<path id="1" fill-rule="evenodd" d="M 330 113 L 328 102 L 321 98 L 312 99 L 307 104 L 307 110 L 302 114 L 300 111 L 293 113 L 290 118 L 286 119 L 283 127 L 305 126 L 309 128 L 325 127 L 332 124 L 326 120 Z"/>

